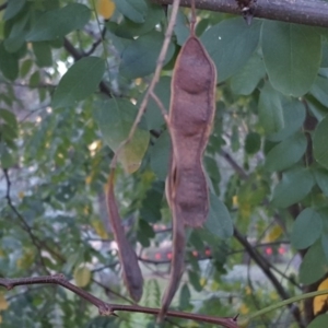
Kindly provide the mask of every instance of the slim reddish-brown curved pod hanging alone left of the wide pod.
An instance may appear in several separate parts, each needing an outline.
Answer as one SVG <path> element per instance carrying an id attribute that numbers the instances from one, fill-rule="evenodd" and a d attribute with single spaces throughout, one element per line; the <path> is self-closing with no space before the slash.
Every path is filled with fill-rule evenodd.
<path id="1" fill-rule="evenodd" d="M 114 237 L 118 245 L 124 281 L 131 298 L 134 302 L 139 302 L 142 296 L 143 278 L 134 249 L 126 238 L 125 231 L 121 226 L 121 220 L 114 195 L 114 169 L 110 169 L 109 174 L 107 207 Z"/>

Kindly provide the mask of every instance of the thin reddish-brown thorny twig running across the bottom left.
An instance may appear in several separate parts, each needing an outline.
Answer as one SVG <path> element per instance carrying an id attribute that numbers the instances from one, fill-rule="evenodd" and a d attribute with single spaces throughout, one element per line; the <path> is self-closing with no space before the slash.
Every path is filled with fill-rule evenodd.
<path id="1" fill-rule="evenodd" d="M 80 297 L 84 298 L 89 303 L 95 305 L 101 315 L 105 316 L 117 316 L 115 312 L 125 311 L 125 312 L 137 312 L 144 313 L 150 315 L 157 315 L 160 308 L 151 308 L 139 305 L 120 305 L 120 304 L 108 304 L 101 298 L 87 293 L 86 291 L 73 285 L 66 280 L 63 274 L 55 276 L 44 276 L 44 277 L 32 277 L 32 278 L 19 278 L 19 279 L 5 279 L 0 278 L 0 285 L 7 288 L 7 290 L 12 290 L 17 285 L 28 285 L 28 284 L 57 284 L 61 285 L 65 289 L 75 293 Z M 196 320 L 201 323 L 221 325 L 225 328 L 238 328 L 236 317 L 210 317 L 206 315 L 198 315 L 185 312 L 168 311 L 166 314 L 167 317 L 183 318 L 189 320 Z"/>

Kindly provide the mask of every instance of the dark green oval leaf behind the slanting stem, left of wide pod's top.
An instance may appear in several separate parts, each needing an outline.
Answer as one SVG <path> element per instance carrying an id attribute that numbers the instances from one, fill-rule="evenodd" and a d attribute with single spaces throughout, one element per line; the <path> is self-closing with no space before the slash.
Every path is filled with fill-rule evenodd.
<path id="1" fill-rule="evenodd" d="M 149 75 L 156 68 L 164 35 L 153 31 L 131 42 L 121 54 L 120 73 L 127 79 Z M 165 63 L 174 55 L 174 45 L 168 46 Z"/>

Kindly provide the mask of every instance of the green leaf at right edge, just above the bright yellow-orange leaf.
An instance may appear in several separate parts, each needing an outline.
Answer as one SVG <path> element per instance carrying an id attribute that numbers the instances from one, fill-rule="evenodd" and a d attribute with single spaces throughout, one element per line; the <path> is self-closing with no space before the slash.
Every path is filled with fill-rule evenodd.
<path id="1" fill-rule="evenodd" d="M 300 282 L 311 284 L 327 273 L 328 262 L 321 243 L 317 242 L 309 247 L 300 267 Z"/>

